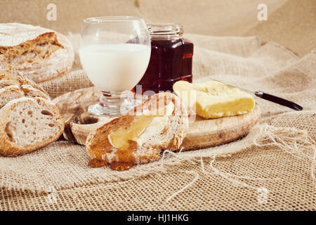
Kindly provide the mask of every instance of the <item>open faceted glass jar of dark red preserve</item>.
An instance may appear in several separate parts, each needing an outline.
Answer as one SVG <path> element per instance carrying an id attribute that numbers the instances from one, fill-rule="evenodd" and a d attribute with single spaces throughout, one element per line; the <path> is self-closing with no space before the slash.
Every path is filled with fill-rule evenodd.
<path id="1" fill-rule="evenodd" d="M 183 27 L 174 23 L 147 24 L 152 52 L 145 75 L 140 79 L 142 94 L 173 91 L 179 80 L 192 82 L 193 44 L 183 39 Z M 133 91 L 136 92 L 134 88 Z"/>

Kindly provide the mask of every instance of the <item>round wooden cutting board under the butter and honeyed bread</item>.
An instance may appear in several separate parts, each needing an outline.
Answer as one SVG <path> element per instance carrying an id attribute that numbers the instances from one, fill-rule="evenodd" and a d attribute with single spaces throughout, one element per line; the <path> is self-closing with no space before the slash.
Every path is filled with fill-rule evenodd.
<path id="1" fill-rule="evenodd" d="M 90 87 L 72 91 L 53 100 L 65 121 L 65 139 L 84 145 L 86 137 L 93 129 L 114 119 L 87 112 L 88 105 L 98 102 L 99 96 L 100 91 Z M 205 120 L 197 115 L 196 120 L 190 122 L 189 132 L 180 148 L 192 150 L 235 141 L 248 134 L 260 117 L 258 105 L 251 113 L 232 117 Z"/>

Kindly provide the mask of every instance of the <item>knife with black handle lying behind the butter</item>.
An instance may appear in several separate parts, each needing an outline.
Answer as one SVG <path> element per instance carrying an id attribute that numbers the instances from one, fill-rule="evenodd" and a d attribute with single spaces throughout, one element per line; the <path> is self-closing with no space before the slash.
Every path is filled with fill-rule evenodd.
<path id="1" fill-rule="evenodd" d="M 211 79 L 213 81 L 216 81 L 216 82 L 220 82 L 219 80 L 217 79 L 212 79 L 212 78 L 208 78 L 208 79 Z M 223 84 L 226 84 L 225 82 L 220 82 L 220 83 L 223 83 Z M 253 94 L 255 94 L 255 96 L 258 96 L 259 98 L 263 98 L 267 101 L 271 101 L 272 103 L 277 103 L 279 105 L 283 105 L 283 106 L 286 106 L 288 108 L 291 108 L 291 109 L 294 109 L 294 110 L 297 110 L 297 111 L 301 111 L 303 110 L 303 107 L 301 105 L 298 105 L 292 101 L 288 101 L 287 99 L 284 99 L 284 98 L 280 98 L 280 97 L 277 97 L 277 96 L 273 96 L 272 94 L 267 94 L 263 91 L 249 91 L 249 90 L 246 90 L 246 89 L 242 89 L 242 88 L 239 88 L 238 86 L 234 86 L 234 85 L 231 85 L 231 84 L 226 84 L 226 85 L 229 85 L 229 86 L 233 86 L 237 89 L 241 89 L 243 91 L 247 91 L 247 92 L 251 92 Z"/>

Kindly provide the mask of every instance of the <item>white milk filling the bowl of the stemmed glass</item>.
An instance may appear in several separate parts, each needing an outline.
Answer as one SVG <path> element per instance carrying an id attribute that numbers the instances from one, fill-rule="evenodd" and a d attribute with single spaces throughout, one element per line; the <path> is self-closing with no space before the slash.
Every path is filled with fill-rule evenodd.
<path id="1" fill-rule="evenodd" d="M 96 44 L 79 49 L 81 65 L 102 91 L 132 89 L 143 77 L 150 60 L 150 46 Z"/>

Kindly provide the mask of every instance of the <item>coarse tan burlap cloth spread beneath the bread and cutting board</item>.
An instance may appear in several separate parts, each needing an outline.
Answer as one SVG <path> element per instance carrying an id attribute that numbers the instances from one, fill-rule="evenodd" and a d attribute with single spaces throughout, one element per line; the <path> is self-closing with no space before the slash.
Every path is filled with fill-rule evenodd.
<path id="1" fill-rule="evenodd" d="M 70 39 L 76 46 L 78 35 Z M 1 210 L 316 210 L 316 53 L 303 58 L 258 37 L 187 35 L 195 82 L 219 79 L 299 103 L 256 98 L 262 119 L 214 148 L 172 153 L 126 172 L 91 169 L 84 146 L 56 141 L 0 157 Z M 42 84 L 52 98 L 91 86 L 79 69 Z M 110 81 L 109 81 L 110 82 Z"/>

